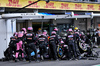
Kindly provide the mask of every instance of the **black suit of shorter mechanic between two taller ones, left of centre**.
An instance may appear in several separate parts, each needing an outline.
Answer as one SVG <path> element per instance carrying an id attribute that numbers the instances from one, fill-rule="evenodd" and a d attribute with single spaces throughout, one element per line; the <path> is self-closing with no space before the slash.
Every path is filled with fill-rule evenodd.
<path id="1" fill-rule="evenodd" d="M 46 43 L 48 42 L 46 36 L 39 37 L 38 42 L 39 42 L 40 55 L 43 55 L 45 57 L 47 54 Z"/>

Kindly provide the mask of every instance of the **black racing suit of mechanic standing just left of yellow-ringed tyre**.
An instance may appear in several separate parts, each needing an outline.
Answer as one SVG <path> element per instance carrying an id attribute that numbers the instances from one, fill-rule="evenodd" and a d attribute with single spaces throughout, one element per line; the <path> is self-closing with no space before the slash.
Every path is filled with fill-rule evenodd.
<path id="1" fill-rule="evenodd" d="M 58 56 L 57 56 L 57 45 L 58 44 L 58 36 L 57 35 L 52 35 L 49 38 L 49 47 L 50 47 L 50 56 L 51 58 L 57 60 Z"/>

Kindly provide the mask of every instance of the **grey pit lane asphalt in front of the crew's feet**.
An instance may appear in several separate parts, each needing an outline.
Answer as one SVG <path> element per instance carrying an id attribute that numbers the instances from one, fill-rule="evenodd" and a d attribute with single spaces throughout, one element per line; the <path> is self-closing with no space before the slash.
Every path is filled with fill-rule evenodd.
<path id="1" fill-rule="evenodd" d="M 100 51 L 100 48 L 96 48 L 96 51 Z M 100 54 L 100 53 L 99 53 Z M 20 62 L 10 62 L 10 61 L 0 61 L 0 66 L 93 66 L 100 64 L 100 55 L 97 60 L 60 60 L 60 61 L 41 61 L 39 63 L 32 61 L 29 63 L 28 61 L 20 61 Z"/>

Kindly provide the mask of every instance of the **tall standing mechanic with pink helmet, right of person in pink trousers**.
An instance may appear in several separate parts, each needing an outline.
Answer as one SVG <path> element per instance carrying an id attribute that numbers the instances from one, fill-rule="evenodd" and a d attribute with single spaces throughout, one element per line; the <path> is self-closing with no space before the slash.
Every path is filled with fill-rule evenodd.
<path id="1" fill-rule="evenodd" d="M 38 62 L 37 60 L 37 49 L 36 49 L 36 37 L 35 34 L 33 33 L 33 28 L 28 27 L 28 32 L 26 33 L 26 45 L 25 45 L 25 51 L 28 56 L 29 62 L 31 62 L 31 53 L 34 51 L 35 52 L 35 61 Z"/>

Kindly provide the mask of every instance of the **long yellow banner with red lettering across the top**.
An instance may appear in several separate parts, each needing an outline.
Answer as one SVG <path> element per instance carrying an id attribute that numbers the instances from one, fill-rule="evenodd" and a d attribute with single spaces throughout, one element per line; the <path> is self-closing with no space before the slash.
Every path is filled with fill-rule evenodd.
<path id="1" fill-rule="evenodd" d="M 16 7 L 22 8 L 37 0 L 0 0 L 0 7 Z M 72 3 L 72 2 L 57 2 L 39 1 L 27 8 L 34 9 L 55 9 L 55 10 L 81 10 L 81 11 L 100 11 L 100 4 L 89 3 Z"/>

